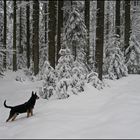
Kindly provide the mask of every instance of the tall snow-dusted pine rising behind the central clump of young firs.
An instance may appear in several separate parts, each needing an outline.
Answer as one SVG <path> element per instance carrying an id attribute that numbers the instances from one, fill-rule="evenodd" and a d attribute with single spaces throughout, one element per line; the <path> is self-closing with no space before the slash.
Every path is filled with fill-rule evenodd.
<path id="1" fill-rule="evenodd" d="M 84 52 L 85 54 L 87 51 L 87 30 L 76 2 L 73 2 L 72 10 L 69 13 L 69 18 L 64 29 L 64 34 L 66 36 L 67 45 L 74 55 L 74 60 L 76 60 L 79 52 Z M 84 58 L 86 60 L 85 56 Z"/>

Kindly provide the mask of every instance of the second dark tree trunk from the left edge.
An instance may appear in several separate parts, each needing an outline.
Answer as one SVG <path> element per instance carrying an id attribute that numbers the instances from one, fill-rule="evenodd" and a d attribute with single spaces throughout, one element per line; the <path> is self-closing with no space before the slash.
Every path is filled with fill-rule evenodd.
<path id="1" fill-rule="evenodd" d="M 16 0 L 14 0 L 14 20 L 13 20 L 13 71 L 17 71 L 17 47 L 16 47 Z"/>

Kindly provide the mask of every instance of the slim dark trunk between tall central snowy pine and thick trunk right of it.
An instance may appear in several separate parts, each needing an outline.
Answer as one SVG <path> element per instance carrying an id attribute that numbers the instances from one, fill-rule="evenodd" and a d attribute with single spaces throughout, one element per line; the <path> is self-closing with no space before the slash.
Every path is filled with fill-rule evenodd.
<path id="1" fill-rule="evenodd" d="M 85 25 L 87 28 L 86 57 L 87 57 L 87 64 L 89 64 L 89 55 L 90 55 L 90 0 L 85 0 Z"/>

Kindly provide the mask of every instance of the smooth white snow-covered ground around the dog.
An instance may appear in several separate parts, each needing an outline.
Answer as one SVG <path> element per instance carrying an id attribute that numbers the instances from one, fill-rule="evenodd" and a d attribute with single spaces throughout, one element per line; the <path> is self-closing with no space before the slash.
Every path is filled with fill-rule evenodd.
<path id="1" fill-rule="evenodd" d="M 19 115 L 6 123 L 8 105 L 24 103 L 41 82 L 18 82 L 17 73 L 0 78 L 0 138 L 140 138 L 140 75 L 108 81 L 101 91 L 86 85 L 85 92 L 65 100 L 39 99 L 34 116 Z"/>

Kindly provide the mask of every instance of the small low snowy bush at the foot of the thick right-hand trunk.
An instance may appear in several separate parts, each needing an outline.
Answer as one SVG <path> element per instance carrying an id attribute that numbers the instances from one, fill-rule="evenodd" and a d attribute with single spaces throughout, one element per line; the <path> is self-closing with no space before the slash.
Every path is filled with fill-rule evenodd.
<path id="1" fill-rule="evenodd" d="M 98 90 L 103 89 L 103 87 L 105 86 L 104 82 L 102 82 L 98 78 L 98 74 L 93 71 L 87 75 L 87 83 L 90 83 L 93 87 L 97 88 Z"/>

